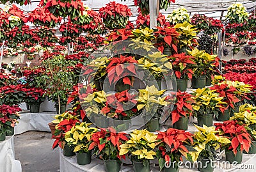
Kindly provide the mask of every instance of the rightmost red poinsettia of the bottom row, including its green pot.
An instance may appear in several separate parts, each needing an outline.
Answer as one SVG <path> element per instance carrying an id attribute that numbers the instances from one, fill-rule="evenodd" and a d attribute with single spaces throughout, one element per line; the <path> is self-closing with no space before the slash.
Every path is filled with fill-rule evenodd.
<path id="1" fill-rule="evenodd" d="M 221 145 L 221 150 L 225 150 L 226 160 L 240 164 L 243 159 L 243 150 L 249 152 L 252 143 L 250 134 L 244 125 L 239 125 L 237 121 L 224 121 L 214 123 L 214 125 L 220 136 L 225 136 L 231 141 L 231 143 Z"/>

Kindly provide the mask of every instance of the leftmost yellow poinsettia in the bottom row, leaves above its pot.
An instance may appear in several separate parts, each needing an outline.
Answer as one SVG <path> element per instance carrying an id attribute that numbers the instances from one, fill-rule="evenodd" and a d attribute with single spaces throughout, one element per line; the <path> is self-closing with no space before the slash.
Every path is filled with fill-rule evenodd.
<path id="1" fill-rule="evenodd" d="M 65 134 L 67 145 L 74 146 L 74 152 L 87 153 L 92 134 L 98 131 L 97 128 L 89 127 L 92 123 L 76 123 L 72 129 Z"/>

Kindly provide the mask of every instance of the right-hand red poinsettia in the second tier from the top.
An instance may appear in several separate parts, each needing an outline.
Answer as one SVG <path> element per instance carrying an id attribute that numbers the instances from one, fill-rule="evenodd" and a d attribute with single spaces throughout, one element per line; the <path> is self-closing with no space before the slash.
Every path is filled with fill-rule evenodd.
<path id="1" fill-rule="evenodd" d="M 170 56 L 170 62 L 173 66 L 173 71 L 178 79 L 192 79 L 194 74 L 192 68 L 195 65 L 195 57 L 188 56 L 182 52 L 180 54 L 173 54 Z"/>

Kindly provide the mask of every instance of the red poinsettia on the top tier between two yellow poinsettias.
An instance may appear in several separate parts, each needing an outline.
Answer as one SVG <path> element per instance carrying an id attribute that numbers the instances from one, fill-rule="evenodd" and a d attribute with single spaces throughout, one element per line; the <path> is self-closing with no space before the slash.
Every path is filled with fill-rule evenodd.
<path id="1" fill-rule="evenodd" d="M 154 32 L 157 38 L 157 48 L 163 52 L 164 48 L 172 49 L 173 54 L 178 52 L 177 44 L 180 34 L 172 27 L 157 27 Z"/>

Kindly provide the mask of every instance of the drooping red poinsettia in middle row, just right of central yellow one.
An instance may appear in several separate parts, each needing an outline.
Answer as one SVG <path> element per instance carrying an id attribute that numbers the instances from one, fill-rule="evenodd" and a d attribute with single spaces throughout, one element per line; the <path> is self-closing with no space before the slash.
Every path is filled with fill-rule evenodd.
<path id="1" fill-rule="evenodd" d="M 171 113 L 172 123 L 177 122 L 182 116 L 189 117 L 193 115 L 192 105 L 195 104 L 195 100 L 191 97 L 193 95 L 186 92 L 178 91 L 176 93 L 176 102 Z"/>

